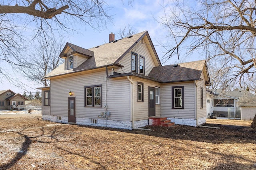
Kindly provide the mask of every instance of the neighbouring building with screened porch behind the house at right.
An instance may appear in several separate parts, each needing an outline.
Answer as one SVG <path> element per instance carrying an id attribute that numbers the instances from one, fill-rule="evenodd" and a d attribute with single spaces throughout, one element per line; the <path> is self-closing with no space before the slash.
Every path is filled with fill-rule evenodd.
<path id="1" fill-rule="evenodd" d="M 256 113 L 256 96 L 246 90 L 209 90 L 208 100 L 211 104 L 210 112 L 207 113 L 214 117 L 252 120 Z M 208 105 L 207 110 L 209 110 Z"/>

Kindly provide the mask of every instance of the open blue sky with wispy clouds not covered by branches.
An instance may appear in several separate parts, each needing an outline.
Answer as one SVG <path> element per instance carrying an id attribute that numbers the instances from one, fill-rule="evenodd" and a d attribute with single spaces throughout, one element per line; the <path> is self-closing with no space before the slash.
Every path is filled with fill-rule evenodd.
<path id="1" fill-rule="evenodd" d="M 132 5 L 128 5 L 128 0 L 108 0 L 107 3 L 110 7 L 113 7 L 108 13 L 113 15 L 113 23 L 107 25 L 106 28 L 100 30 L 94 30 L 91 27 L 84 27 L 82 24 L 77 24 L 74 29 L 77 31 L 74 35 L 67 34 L 63 38 L 63 42 L 70 42 L 72 44 L 78 45 L 83 48 L 91 48 L 97 45 L 108 43 L 108 36 L 111 32 L 117 33 L 120 28 L 130 25 L 133 29 L 137 30 L 138 33 L 147 30 L 152 42 L 158 53 L 158 57 L 162 59 L 165 49 L 160 47 L 161 43 L 166 43 L 167 39 L 165 38 L 166 30 L 157 23 L 154 18 L 163 16 L 163 4 L 169 4 L 172 6 L 170 0 L 140 0 L 132 2 Z M 170 39 L 169 39 L 169 42 Z M 61 51 L 60 51 L 61 52 Z M 189 57 L 178 60 L 178 57 L 172 57 L 165 64 L 175 64 L 183 63 L 187 61 L 200 60 L 200 57 Z M 40 87 L 41 85 L 35 84 L 25 80 L 22 76 L 18 74 L 13 74 L 16 78 L 20 78 L 20 81 L 28 86 L 25 87 L 28 92 L 36 92 L 35 88 Z M 20 76 L 20 77 L 19 77 Z M 14 85 L 10 84 L 7 80 L 2 79 L 0 82 L 0 90 L 10 89 L 15 93 L 23 94 L 23 89 L 16 88 Z"/>

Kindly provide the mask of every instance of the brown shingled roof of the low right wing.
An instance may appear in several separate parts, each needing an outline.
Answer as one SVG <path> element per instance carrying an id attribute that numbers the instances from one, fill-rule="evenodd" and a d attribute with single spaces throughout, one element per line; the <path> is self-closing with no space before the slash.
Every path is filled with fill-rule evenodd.
<path id="1" fill-rule="evenodd" d="M 164 83 L 200 80 L 204 67 L 206 68 L 205 60 L 180 63 L 177 65 L 158 66 L 151 70 L 148 77 Z M 206 78 L 206 81 L 208 80 L 209 78 Z"/>

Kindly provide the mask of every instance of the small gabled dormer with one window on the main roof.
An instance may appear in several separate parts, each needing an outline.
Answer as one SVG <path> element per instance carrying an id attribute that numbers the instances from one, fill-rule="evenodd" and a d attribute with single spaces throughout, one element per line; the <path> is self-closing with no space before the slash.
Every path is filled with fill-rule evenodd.
<path id="1" fill-rule="evenodd" d="M 93 51 L 71 43 L 66 43 L 64 49 L 60 53 L 60 58 L 65 60 L 65 70 L 76 68 L 91 57 L 94 57 Z"/>

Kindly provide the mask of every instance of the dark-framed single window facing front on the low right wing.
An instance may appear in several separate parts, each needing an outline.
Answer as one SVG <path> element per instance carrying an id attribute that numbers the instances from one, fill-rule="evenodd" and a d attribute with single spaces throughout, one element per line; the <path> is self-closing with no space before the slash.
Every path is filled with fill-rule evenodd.
<path id="1" fill-rule="evenodd" d="M 172 87 L 172 108 L 184 109 L 183 86 Z"/>

